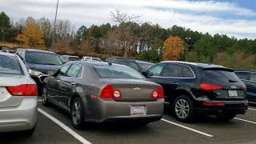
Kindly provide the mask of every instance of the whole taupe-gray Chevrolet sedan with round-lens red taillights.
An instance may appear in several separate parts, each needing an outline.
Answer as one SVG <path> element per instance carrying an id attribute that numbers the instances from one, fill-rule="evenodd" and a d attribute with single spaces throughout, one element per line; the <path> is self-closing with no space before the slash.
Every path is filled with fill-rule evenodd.
<path id="1" fill-rule="evenodd" d="M 162 86 L 128 66 L 106 62 L 70 62 L 46 78 L 42 102 L 71 114 L 75 128 L 84 122 L 133 120 L 136 124 L 162 118 Z"/>

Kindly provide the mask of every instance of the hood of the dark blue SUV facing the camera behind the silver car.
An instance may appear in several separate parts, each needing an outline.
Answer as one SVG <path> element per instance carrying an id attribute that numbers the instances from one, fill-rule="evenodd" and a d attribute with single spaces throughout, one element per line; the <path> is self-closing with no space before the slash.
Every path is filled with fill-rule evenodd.
<path id="1" fill-rule="evenodd" d="M 44 74 L 50 74 L 52 72 L 56 72 L 61 65 L 41 65 L 41 64 L 32 64 L 27 63 L 26 68 L 30 70 L 37 70 Z"/>

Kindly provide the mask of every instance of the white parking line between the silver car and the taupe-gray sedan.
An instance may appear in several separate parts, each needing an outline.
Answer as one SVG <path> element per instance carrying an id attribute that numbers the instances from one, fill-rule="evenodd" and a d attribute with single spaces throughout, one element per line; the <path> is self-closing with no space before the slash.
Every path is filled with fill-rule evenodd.
<path id="1" fill-rule="evenodd" d="M 40 108 L 38 108 L 38 111 L 45 115 L 47 118 L 50 118 L 50 120 L 52 120 L 53 122 L 55 122 L 58 126 L 61 126 L 62 129 L 66 130 L 68 133 L 70 133 L 74 138 L 77 138 L 78 141 L 84 143 L 84 144 L 90 144 L 89 141 L 87 141 L 85 138 L 83 138 L 81 135 L 79 135 L 78 133 L 76 133 L 74 130 L 70 129 L 70 127 L 66 126 L 64 123 L 60 122 L 57 118 L 54 118 L 53 116 L 51 116 L 50 114 L 47 114 L 44 110 L 41 110 Z"/>

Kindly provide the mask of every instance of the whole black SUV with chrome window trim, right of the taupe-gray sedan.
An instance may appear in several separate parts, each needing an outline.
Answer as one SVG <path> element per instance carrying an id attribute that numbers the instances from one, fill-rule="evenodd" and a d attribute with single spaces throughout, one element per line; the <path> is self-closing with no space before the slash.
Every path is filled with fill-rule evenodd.
<path id="1" fill-rule="evenodd" d="M 229 121 L 248 108 L 246 86 L 223 66 L 160 62 L 142 74 L 162 85 L 166 103 L 181 122 L 193 122 L 198 114 Z"/>

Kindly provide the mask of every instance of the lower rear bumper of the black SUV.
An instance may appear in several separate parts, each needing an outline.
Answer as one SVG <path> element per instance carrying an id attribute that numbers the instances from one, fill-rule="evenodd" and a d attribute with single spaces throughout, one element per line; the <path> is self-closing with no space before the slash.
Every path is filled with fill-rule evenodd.
<path id="1" fill-rule="evenodd" d="M 219 114 L 246 114 L 248 106 L 247 101 L 242 102 L 222 102 L 225 106 L 202 106 L 199 105 L 196 109 L 198 114 L 219 115 Z"/>

